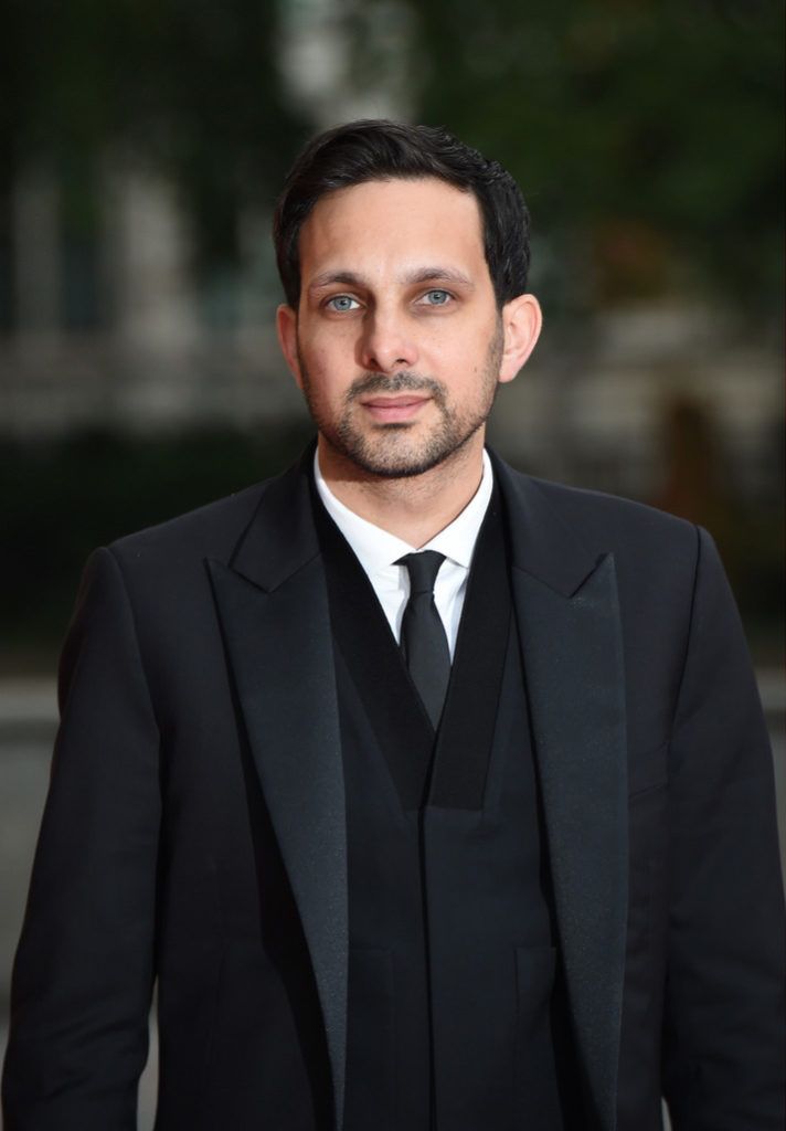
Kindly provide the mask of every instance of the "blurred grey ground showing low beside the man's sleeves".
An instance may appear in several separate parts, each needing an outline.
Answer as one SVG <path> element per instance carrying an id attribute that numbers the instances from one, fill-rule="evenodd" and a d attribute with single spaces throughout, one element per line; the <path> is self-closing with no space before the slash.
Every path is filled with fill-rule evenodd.
<path id="1" fill-rule="evenodd" d="M 772 735 L 786 874 L 786 680 L 779 672 L 760 672 L 759 685 Z M 0 681 L 0 1060 L 8 1033 L 11 961 L 24 915 L 55 728 L 53 680 Z M 156 1067 L 152 1019 L 150 1054 L 139 1093 L 139 1131 L 153 1128 Z"/>

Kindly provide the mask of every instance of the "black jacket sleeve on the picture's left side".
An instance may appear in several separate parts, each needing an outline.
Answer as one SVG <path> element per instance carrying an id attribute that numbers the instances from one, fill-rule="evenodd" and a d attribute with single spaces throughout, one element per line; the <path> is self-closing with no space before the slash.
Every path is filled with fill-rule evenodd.
<path id="1" fill-rule="evenodd" d="M 7 1131 L 132 1131 L 154 978 L 158 731 L 118 561 L 88 560 L 11 986 Z"/>

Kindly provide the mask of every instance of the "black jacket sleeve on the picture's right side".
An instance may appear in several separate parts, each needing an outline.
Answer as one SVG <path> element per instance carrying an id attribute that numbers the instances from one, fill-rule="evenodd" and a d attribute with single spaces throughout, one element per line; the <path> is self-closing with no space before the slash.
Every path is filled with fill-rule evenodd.
<path id="1" fill-rule="evenodd" d="M 786 950 L 772 757 L 740 619 L 705 530 L 670 813 L 663 1065 L 674 1131 L 783 1131 Z"/>

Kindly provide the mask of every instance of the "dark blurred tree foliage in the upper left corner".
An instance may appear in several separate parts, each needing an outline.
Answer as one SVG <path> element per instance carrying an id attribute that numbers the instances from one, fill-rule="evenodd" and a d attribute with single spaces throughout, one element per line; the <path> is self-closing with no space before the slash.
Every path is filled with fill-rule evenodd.
<path id="1" fill-rule="evenodd" d="M 0 254 L 20 170 L 54 174 L 78 248 L 98 223 L 103 164 L 131 158 L 179 187 L 198 266 L 236 262 L 242 207 L 270 202 L 304 130 L 277 36 L 270 0 L 6 0 Z"/>

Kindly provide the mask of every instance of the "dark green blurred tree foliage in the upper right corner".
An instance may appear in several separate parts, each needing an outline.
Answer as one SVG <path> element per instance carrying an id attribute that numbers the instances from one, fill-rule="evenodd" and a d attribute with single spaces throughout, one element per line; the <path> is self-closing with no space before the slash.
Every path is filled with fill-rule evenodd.
<path id="1" fill-rule="evenodd" d="M 779 310 L 779 2 L 398 3 L 414 28 L 416 119 L 521 183 L 549 233 L 552 303 L 709 290 Z M 366 86 L 374 7 L 389 20 L 391 0 L 345 15 Z"/>

